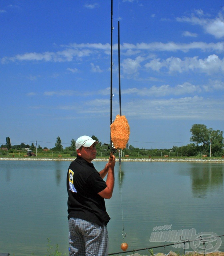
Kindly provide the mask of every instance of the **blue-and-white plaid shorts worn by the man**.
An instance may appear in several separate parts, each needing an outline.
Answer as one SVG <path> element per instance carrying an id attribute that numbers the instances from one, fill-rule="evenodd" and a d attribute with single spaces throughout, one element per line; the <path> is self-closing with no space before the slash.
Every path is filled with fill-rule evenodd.
<path id="1" fill-rule="evenodd" d="M 70 218 L 69 256 L 107 256 L 108 232 L 99 226 L 79 218 Z"/>

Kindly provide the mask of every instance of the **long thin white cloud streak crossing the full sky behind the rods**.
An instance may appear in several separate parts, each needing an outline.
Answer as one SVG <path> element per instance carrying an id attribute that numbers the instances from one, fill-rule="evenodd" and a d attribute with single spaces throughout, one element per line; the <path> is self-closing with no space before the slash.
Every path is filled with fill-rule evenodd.
<path id="1" fill-rule="evenodd" d="M 105 54 L 106 56 L 110 55 L 110 44 L 71 44 L 69 46 L 61 46 L 65 49 L 57 52 L 44 52 L 44 53 L 25 53 L 18 54 L 14 57 L 3 57 L 1 63 L 7 62 L 16 62 L 16 61 L 45 61 L 45 62 L 70 62 L 73 60 L 82 60 L 84 57 L 89 56 L 100 56 Z M 114 50 L 117 50 L 117 44 L 113 46 Z M 201 51 L 215 51 L 223 52 L 224 51 L 224 42 L 218 43 L 204 43 L 204 42 L 192 42 L 189 44 L 180 44 L 174 42 L 162 43 L 137 43 L 129 44 L 124 43 L 121 45 L 121 52 L 124 56 L 138 55 L 141 58 L 141 55 L 150 54 L 152 52 L 188 52 L 189 50 L 201 50 Z M 132 64 L 133 60 L 131 60 Z M 136 62 L 138 60 L 136 59 Z M 137 64 L 137 63 L 136 63 Z"/>

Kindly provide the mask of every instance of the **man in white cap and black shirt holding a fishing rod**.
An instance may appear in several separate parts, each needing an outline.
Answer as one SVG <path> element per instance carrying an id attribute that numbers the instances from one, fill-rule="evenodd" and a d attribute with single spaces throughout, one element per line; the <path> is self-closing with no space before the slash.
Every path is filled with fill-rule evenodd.
<path id="1" fill-rule="evenodd" d="M 89 136 L 76 140 L 77 158 L 67 172 L 69 255 L 108 255 L 107 223 L 104 198 L 112 196 L 115 156 L 111 154 L 98 172 L 91 163 L 96 158 L 98 141 Z M 106 182 L 103 178 L 107 175 Z"/>

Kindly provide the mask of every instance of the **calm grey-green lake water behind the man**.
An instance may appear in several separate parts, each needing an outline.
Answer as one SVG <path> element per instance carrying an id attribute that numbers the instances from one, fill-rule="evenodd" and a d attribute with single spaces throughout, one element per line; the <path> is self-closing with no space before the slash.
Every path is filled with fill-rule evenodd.
<path id="1" fill-rule="evenodd" d="M 106 162 L 93 162 L 101 170 Z M 43 256 L 48 238 L 68 255 L 67 161 L 0 161 L 0 252 Z M 169 244 L 149 242 L 155 226 L 224 235 L 221 163 L 116 163 L 113 197 L 106 200 L 109 253 Z M 121 177 L 121 182 L 120 182 Z M 123 222 L 122 222 L 123 205 Z M 222 239 L 223 240 L 223 239 Z M 154 252 L 178 251 L 171 247 Z M 219 250 L 224 251 L 224 241 Z M 191 250 L 192 251 L 192 250 Z M 183 249 L 180 249 L 183 253 Z M 140 254 L 149 252 L 140 251 Z M 129 253 L 130 254 L 130 253 Z M 125 254 L 123 254 L 125 255 Z"/>

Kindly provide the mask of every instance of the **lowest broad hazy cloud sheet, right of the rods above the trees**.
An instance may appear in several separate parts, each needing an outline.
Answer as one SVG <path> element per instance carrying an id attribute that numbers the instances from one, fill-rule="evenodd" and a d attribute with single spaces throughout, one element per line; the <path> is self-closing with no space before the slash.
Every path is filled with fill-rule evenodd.
<path id="1" fill-rule="evenodd" d="M 219 111 L 214 112 L 214 109 Z M 142 99 L 123 106 L 126 116 L 137 119 L 224 120 L 221 99 L 198 96 L 170 99 Z"/>

